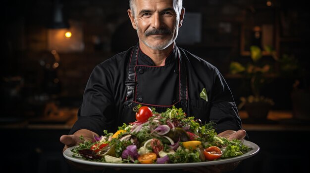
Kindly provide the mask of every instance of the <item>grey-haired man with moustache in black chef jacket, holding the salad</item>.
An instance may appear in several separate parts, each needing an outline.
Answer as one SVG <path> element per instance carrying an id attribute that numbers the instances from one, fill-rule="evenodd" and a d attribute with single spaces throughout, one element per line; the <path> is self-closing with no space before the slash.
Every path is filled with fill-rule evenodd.
<path id="1" fill-rule="evenodd" d="M 176 46 L 184 14 L 182 0 L 130 0 L 128 15 L 139 43 L 94 68 L 78 120 L 70 135 L 60 137 L 64 150 L 78 144 L 80 136 L 93 138 L 103 135 L 103 130 L 114 132 L 122 123 L 135 121 L 132 108 L 137 104 L 155 107 L 157 112 L 175 105 L 203 122 L 215 122 L 218 136 L 245 138 L 220 72 Z M 203 88 L 206 100 L 200 98 Z"/>

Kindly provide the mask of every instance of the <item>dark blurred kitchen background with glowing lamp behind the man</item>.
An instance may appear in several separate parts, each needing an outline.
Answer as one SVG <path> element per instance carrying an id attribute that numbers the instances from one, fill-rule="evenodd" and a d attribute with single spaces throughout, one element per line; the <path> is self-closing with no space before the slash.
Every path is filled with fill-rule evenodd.
<path id="1" fill-rule="evenodd" d="M 82 172 L 65 162 L 59 137 L 76 120 L 92 69 L 137 43 L 128 6 L 128 0 L 2 1 L 0 129 L 9 173 Z M 306 2 L 183 0 L 183 6 L 177 45 L 221 71 L 244 129 L 261 149 L 236 171 L 309 173 Z M 263 117 L 246 107 L 255 96 L 270 104 L 250 108 Z"/>

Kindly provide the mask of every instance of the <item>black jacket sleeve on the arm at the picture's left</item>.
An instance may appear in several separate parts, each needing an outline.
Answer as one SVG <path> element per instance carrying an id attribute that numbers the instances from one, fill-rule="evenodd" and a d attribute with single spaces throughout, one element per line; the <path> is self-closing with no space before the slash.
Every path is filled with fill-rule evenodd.
<path id="1" fill-rule="evenodd" d="M 112 114 L 109 113 L 114 103 L 109 84 L 109 73 L 101 65 L 97 65 L 88 79 L 78 119 L 69 134 L 80 129 L 87 129 L 98 135 L 103 135 L 103 130 L 109 131 L 107 127 L 115 123 Z"/>

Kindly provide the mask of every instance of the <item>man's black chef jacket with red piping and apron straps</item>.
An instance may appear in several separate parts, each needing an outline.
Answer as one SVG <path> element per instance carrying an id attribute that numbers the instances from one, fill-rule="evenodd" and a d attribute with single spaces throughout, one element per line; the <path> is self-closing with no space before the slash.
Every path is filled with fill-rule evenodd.
<path id="1" fill-rule="evenodd" d="M 203 88 L 208 101 L 200 98 Z M 158 67 L 137 44 L 93 69 L 69 134 L 79 129 L 113 133 L 123 123 L 135 121 L 132 107 L 137 104 L 157 112 L 182 107 L 188 116 L 216 123 L 217 133 L 241 129 L 236 104 L 218 69 L 176 44 L 165 65 Z"/>

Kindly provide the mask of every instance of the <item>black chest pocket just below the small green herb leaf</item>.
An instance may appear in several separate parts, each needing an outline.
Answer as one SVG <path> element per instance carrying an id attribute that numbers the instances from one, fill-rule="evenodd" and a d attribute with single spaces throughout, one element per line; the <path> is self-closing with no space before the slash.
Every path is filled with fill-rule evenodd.
<path id="1" fill-rule="evenodd" d="M 188 116 L 194 116 L 195 119 L 200 119 L 203 124 L 209 121 L 210 102 L 204 100 L 189 100 L 188 104 Z"/>

